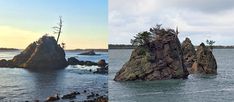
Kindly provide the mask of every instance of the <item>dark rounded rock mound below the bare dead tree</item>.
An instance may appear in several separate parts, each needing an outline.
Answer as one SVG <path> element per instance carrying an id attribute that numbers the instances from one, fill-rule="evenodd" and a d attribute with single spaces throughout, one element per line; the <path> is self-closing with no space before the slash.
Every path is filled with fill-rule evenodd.
<path id="1" fill-rule="evenodd" d="M 63 48 L 54 37 L 46 35 L 31 43 L 12 61 L 15 67 L 28 69 L 61 69 L 68 65 Z"/>

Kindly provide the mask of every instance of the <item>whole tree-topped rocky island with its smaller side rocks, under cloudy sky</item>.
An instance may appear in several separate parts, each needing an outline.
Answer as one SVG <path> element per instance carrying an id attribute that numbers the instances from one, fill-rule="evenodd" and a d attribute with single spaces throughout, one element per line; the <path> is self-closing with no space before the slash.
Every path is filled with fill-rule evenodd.
<path id="1" fill-rule="evenodd" d="M 131 40 L 137 47 L 114 80 L 186 79 L 191 73 L 217 74 L 212 50 L 202 43 L 195 51 L 189 38 L 181 45 L 178 34 L 178 29 L 161 25 L 138 33 Z"/>

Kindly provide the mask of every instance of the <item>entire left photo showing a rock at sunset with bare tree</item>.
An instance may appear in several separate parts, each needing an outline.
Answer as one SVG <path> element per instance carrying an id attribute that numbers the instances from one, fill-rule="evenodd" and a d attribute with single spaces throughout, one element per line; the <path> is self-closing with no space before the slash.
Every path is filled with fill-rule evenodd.
<path id="1" fill-rule="evenodd" d="M 1 0 L 0 102 L 107 102 L 107 0 Z"/>

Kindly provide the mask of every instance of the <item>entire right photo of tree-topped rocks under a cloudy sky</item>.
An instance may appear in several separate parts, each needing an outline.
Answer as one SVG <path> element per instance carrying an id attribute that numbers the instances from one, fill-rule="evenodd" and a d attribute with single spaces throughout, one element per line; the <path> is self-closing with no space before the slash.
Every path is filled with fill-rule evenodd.
<path id="1" fill-rule="evenodd" d="M 234 100 L 233 4 L 109 0 L 109 101 Z"/>

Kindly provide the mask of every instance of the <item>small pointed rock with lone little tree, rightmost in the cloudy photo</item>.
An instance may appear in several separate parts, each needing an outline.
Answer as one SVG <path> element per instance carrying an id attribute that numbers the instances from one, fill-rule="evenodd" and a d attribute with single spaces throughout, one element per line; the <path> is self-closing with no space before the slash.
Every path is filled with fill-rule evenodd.
<path id="1" fill-rule="evenodd" d="M 191 73 L 217 74 L 217 63 L 212 51 L 201 43 L 196 51 L 196 61 L 192 65 Z"/>

